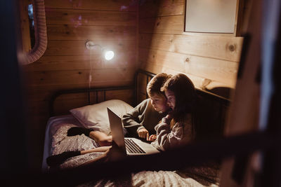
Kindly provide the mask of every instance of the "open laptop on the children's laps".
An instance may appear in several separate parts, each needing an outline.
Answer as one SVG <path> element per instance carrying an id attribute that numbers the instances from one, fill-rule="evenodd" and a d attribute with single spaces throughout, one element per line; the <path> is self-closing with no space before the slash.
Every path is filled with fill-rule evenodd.
<path id="1" fill-rule="evenodd" d="M 121 118 L 108 107 L 107 113 L 110 120 L 112 141 L 114 141 L 119 148 L 124 150 L 124 152 L 126 151 L 126 155 L 148 155 L 159 153 L 154 146 L 141 141 L 141 139 L 125 138 Z"/>

